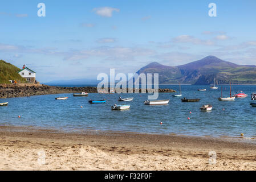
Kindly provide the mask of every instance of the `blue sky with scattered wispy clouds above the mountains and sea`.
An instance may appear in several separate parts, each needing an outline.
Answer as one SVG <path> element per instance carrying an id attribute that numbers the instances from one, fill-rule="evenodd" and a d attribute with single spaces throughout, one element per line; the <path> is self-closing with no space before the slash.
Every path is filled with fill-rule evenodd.
<path id="1" fill-rule="evenodd" d="M 38 17 L 38 3 L 46 16 Z M 208 15 L 216 3 L 217 17 Z M 256 1 L 0 2 L 0 59 L 37 80 L 134 73 L 157 61 L 180 65 L 215 55 L 256 64 Z"/>

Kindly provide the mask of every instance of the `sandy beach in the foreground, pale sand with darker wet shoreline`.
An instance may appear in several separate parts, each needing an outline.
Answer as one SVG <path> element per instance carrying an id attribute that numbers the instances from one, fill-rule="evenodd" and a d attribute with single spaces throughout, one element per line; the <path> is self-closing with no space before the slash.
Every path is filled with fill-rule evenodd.
<path id="1" fill-rule="evenodd" d="M 255 170 L 256 144 L 241 141 L 1 126 L 0 170 Z"/>

